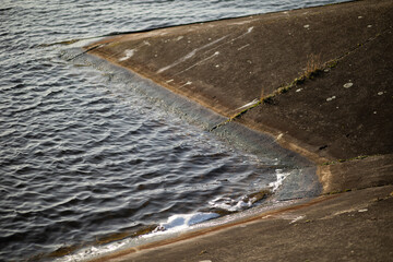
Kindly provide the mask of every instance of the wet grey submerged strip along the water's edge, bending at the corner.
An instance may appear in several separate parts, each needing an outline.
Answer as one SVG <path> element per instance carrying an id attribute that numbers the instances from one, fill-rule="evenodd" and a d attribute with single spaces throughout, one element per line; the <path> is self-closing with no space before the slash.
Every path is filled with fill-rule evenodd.
<path id="1" fill-rule="evenodd" d="M 71 254 L 68 259 L 90 261 L 83 257 L 84 253 L 92 253 L 91 249 L 88 248 L 91 245 L 99 245 L 102 248 L 99 248 L 97 251 L 99 254 L 92 258 L 93 260 L 94 258 L 100 255 L 106 258 L 108 253 L 112 252 L 107 250 L 107 247 L 111 246 L 111 243 L 119 245 L 121 248 L 118 248 L 118 250 L 123 249 L 122 240 L 126 240 L 124 246 L 127 247 L 127 250 L 134 250 L 135 247 L 139 249 L 139 247 L 142 246 L 155 247 L 156 242 L 168 242 L 168 239 L 172 239 L 176 242 L 177 240 L 175 239 L 179 239 L 179 237 L 177 237 L 178 235 L 181 235 L 180 239 L 183 239 L 183 234 L 198 236 L 199 233 L 194 234 L 194 231 L 199 231 L 201 228 L 227 228 L 227 226 L 224 226 L 224 224 L 229 223 L 230 225 L 237 225 L 240 221 L 253 221 L 255 214 L 258 215 L 261 212 L 282 210 L 284 207 L 294 205 L 294 203 L 297 201 L 305 202 L 320 194 L 321 186 L 318 181 L 318 178 L 314 176 L 317 167 L 301 155 L 279 146 L 276 141 L 271 138 L 271 135 L 254 131 L 236 122 L 227 124 L 222 129 L 210 131 L 217 123 L 223 122 L 226 119 L 216 112 L 202 107 L 198 103 L 174 94 L 170 91 L 163 88 L 148 79 L 142 78 L 141 75 L 138 75 L 130 70 L 112 64 L 99 57 L 91 55 L 79 56 L 78 53 L 80 53 L 80 51 L 81 50 L 78 47 L 72 48 L 69 50 L 67 57 L 78 56 L 75 59 L 73 59 L 75 64 L 92 66 L 102 72 L 115 74 L 116 79 L 118 79 L 117 81 L 127 81 L 127 83 L 132 83 L 135 88 L 134 92 L 143 95 L 144 97 L 148 97 L 148 100 L 152 100 L 152 103 L 157 106 L 159 110 L 178 115 L 178 117 L 180 117 L 180 119 L 182 119 L 188 124 L 199 127 L 201 132 L 211 132 L 218 141 L 228 143 L 229 147 L 238 151 L 239 154 L 258 157 L 262 165 L 264 165 L 263 163 L 265 163 L 265 165 L 270 165 L 269 163 L 274 159 L 276 163 L 272 165 L 272 167 L 283 169 L 285 172 L 290 171 L 290 176 L 285 179 L 284 184 L 281 184 L 278 190 L 276 190 L 274 193 L 269 193 L 267 195 L 263 196 L 261 201 L 262 203 L 258 204 L 257 206 L 251 206 L 242 211 L 236 211 L 230 214 L 226 214 L 225 212 L 219 213 L 221 216 L 215 219 L 204 221 L 181 231 L 169 230 L 168 233 L 158 236 L 147 235 L 157 226 L 156 225 L 154 227 L 147 226 L 146 228 L 142 228 L 138 231 L 108 235 L 103 239 L 98 239 L 97 242 L 92 242 L 88 246 L 66 247 L 59 249 L 48 254 L 50 258 L 59 258 L 60 261 L 63 261 L 61 260 L 63 255 L 68 257 Z M 259 193 L 259 191 L 255 193 Z M 206 229 L 203 229 L 203 231 L 206 231 Z M 136 240 L 136 238 L 140 236 L 142 238 Z M 144 236 L 146 238 L 144 238 Z M 133 239 L 128 241 L 127 239 L 129 238 Z M 111 248 L 108 249 L 110 250 Z"/>

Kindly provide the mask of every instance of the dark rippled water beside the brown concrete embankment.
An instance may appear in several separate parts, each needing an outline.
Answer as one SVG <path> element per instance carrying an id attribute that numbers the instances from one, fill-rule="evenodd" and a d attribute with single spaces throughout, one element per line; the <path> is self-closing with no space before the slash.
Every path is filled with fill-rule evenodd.
<path id="1" fill-rule="evenodd" d="M 290 174 L 49 44 L 331 2 L 1 0 L 0 261 L 242 209 Z"/>

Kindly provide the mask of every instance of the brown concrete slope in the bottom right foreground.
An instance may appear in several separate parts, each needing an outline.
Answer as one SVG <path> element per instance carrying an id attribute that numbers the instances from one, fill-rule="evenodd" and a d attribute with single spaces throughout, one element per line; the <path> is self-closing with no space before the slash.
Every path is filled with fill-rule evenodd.
<path id="1" fill-rule="evenodd" d="M 250 222 L 94 261 L 392 261 L 393 187 L 324 195 Z"/>

